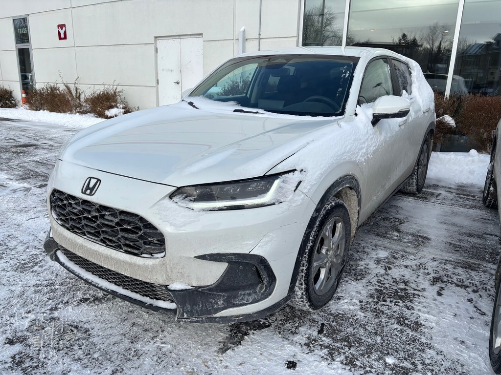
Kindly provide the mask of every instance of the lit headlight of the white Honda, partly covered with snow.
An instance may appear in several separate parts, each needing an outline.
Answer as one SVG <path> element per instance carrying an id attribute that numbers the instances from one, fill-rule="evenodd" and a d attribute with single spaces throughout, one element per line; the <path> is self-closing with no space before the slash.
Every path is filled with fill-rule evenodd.
<path id="1" fill-rule="evenodd" d="M 280 201 L 277 192 L 284 175 L 285 173 L 281 173 L 239 181 L 183 186 L 170 194 L 170 198 L 193 209 L 262 207 Z"/>

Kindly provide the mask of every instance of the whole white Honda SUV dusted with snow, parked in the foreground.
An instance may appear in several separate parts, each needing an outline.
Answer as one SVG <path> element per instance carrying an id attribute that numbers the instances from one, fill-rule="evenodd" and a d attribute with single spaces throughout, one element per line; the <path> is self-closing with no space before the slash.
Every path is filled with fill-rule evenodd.
<path id="1" fill-rule="evenodd" d="M 49 180 L 44 247 L 182 320 L 318 309 L 357 227 L 422 189 L 434 128 L 419 65 L 389 50 L 245 53 L 176 104 L 75 134 Z"/>

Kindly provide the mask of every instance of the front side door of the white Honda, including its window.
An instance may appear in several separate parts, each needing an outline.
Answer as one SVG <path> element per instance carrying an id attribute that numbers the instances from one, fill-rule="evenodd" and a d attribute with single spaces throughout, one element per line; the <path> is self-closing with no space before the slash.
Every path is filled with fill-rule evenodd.
<path id="1" fill-rule="evenodd" d="M 399 95 L 398 91 L 399 86 L 392 72 L 390 58 L 373 59 L 364 72 L 359 105 L 372 104 L 383 95 Z M 369 138 L 367 140 L 367 178 L 362 204 L 367 212 L 372 212 L 405 178 L 403 175 L 406 168 L 406 118 L 380 120 L 372 127 L 372 134 Z"/>

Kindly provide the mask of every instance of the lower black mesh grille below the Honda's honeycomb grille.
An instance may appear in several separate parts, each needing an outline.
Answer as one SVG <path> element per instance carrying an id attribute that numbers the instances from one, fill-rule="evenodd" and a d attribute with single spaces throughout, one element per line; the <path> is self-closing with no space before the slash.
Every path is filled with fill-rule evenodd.
<path id="1" fill-rule="evenodd" d="M 82 267 L 87 272 L 102 278 L 112 284 L 120 286 L 124 289 L 132 291 L 134 293 L 140 294 L 143 297 L 150 299 L 173 302 L 172 296 L 165 287 L 165 285 L 153 284 L 151 282 L 146 282 L 138 280 L 137 278 L 124 275 L 119 272 L 115 272 L 109 268 L 103 267 L 102 265 L 96 264 L 80 255 L 71 252 L 67 248 L 59 247 L 59 250 L 74 264 Z"/>

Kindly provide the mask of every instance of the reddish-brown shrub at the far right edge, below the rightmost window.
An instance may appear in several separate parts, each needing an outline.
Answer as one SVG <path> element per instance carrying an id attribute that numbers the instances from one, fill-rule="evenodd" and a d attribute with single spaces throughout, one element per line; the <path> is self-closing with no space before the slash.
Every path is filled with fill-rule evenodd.
<path id="1" fill-rule="evenodd" d="M 493 130 L 501 118 L 501 96 L 471 95 L 462 99 L 459 114 L 459 128 L 469 136 L 478 151 L 488 153 L 493 138 Z"/>

